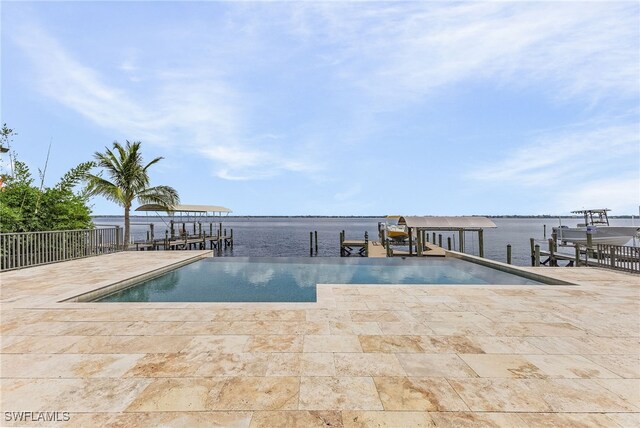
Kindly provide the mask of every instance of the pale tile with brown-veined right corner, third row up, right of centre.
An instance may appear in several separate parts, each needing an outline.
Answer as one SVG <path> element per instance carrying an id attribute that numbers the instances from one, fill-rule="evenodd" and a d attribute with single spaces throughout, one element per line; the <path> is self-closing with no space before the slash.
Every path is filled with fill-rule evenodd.
<path id="1" fill-rule="evenodd" d="M 507 354 L 460 354 L 478 376 L 485 378 L 546 378 L 527 356 Z"/>

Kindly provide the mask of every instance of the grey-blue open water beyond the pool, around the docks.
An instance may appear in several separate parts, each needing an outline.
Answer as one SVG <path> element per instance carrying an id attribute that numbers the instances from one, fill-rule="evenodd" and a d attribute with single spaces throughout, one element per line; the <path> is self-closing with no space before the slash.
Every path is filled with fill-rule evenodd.
<path id="1" fill-rule="evenodd" d="M 179 217 L 176 217 L 178 219 Z M 507 244 L 512 246 L 513 264 L 529 265 L 529 238 L 543 238 L 543 226 L 547 226 L 547 238 L 551 237 L 551 228 L 558 225 L 558 219 L 552 218 L 494 218 L 496 229 L 484 232 L 485 257 L 506 261 Z M 177 220 L 176 220 L 177 221 Z M 309 255 L 309 232 L 318 231 L 318 256 L 337 257 L 340 255 L 340 231 L 346 232 L 347 239 L 363 239 L 364 233 L 377 239 L 378 222 L 382 218 L 257 218 L 257 217 L 215 217 L 203 218 L 205 222 L 222 222 L 223 228 L 233 229 L 234 248 L 224 255 L 242 257 L 301 257 Z M 562 219 L 562 224 L 574 226 L 578 219 Z M 122 225 L 121 217 L 95 217 L 97 225 Z M 132 236 L 135 240 L 143 240 L 149 230 L 149 223 L 154 224 L 156 237 L 164 236 L 169 228 L 169 219 L 158 216 L 132 217 Z M 631 226 L 631 219 L 611 219 L 615 226 Z M 636 224 L 638 221 L 636 220 Z M 207 226 L 208 227 L 208 226 Z M 207 229 L 208 230 L 208 229 Z M 447 236 L 451 236 L 454 248 L 458 248 L 458 234 L 443 233 L 446 246 Z M 466 252 L 478 253 L 476 233 L 467 233 L 465 238 Z"/>

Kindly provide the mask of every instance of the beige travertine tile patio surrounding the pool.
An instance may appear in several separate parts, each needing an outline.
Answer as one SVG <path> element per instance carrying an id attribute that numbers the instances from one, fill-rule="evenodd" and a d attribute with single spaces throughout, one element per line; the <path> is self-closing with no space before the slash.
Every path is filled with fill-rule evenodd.
<path id="1" fill-rule="evenodd" d="M 206 255 L 2 273 L 1 425 L 640 426 L 634 275 L 527 267 L 576 285 L 320 285 L 317 303 L 61 302 Z"/>

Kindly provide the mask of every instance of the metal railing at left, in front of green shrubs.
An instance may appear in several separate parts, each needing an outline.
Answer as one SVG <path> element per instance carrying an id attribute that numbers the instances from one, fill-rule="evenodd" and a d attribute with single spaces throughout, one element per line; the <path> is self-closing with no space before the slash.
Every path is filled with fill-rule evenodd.
<path id="1" fill-rule="evenodd" d="M 0 233 L 0 270 L 20 269 L 123 251 L 119 226 L 104 229 Z"/>

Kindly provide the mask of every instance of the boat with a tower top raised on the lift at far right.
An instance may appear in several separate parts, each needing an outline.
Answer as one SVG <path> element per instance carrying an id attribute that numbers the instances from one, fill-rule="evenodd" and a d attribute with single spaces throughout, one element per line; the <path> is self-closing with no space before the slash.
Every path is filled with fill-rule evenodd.
<path id="1" fill-rule="evenodd" d="M 584 223 L 575 227 L 554 227 L 553 232 L 561 244 L 587 245 L 587 235 L 591 235 L 592 245 L 626 245 L 631 240 L 640 239 L 640 227 L 637 226 L 611 226 L 607 212 L 608 208 L 571 211 L 572 214 L 581 214 Z"/>

